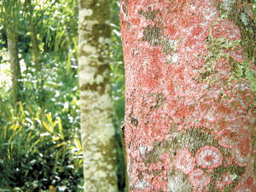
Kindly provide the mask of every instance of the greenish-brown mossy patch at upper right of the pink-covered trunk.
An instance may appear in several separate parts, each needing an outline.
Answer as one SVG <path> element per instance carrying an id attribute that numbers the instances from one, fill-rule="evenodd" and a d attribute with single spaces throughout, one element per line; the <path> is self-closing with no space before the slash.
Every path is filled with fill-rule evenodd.
<path id="1" fill-rule="evenodd" d="M 246 18 L 244 18 L 244 14 L 246 12 L 247 6 L 241 6 L 241 4 L 237 3 L 234 0 L 230 1 L 225 1 L 225 3 L 219 3 L 217 0 L 214 1 L 216 8 L 218 9 L 219 13 L 219 18 L 222 20 L 222 18 L 227 18 L 230 21 L 234 21 L 236 26 L 240 28 L 241 31 L 241 40 L 232 42 L 229 41 L 228 39 L 222 37 L 218 39 L 212 38 L 212 35 L 207 37 L 206 44 L 207 49 L 211 55 L 218 55 L 215 59 L 212 58 L 210 63 L 213 66 L 213 64 L 218 61 L 218 59 L 222 56 L 229 58 L 230 62 L 230 79 L 228 80 L 229 82 L 233 79 L 240 80 L 243 78 L 247 78 L 247 80 L 250 82 L 251 87 L 253 91 L 255 92 L 255 75 L 252 72 L 249 72 L 247 70 L 248 64 L 250 61 L 253 60 L 255 57 L 255 32 L 256 32 L 256 25 L 253 23 L 253 20 L 250 19 L 248 15 L 245 15 Z M 243 2 L 247 3 L 247 2 Z M 229 4 L 229 8 L 227 9 L 226 5 Z M 243 14 L 243 17 L 241 17 L 241 14 Z M 241 20 L 241 18 L 244 18 L 247 20 L 247 23 Z M 216 20 L 212 25 L 218 24 L 219 20 Z M 247 24 L 247 25 L 246 25 Z M 211 29 L 210 29 L 210 34 L 211 34 Z M 241 47 L 243 49 L 243 52 L 246 56 L 245 61 L 243 62 L 238 62 L 235 61 L 233 58 L 230 57 L 228 53 L 224 53 L 223 50 L 230 49 L 234 45 L 241 44 Z M 215 60 L 215 61 L 214 61 Z M 207 63 L 209 66 L 209 64 Z M 211 70 L 208 70 L 211 71 Z M 227 83 L 227 82 L 225 82 Z"/>

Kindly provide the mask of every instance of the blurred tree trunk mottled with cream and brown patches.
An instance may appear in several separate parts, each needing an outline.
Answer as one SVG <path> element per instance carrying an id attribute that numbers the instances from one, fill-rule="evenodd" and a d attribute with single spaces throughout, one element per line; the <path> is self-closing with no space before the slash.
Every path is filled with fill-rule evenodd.
<path id="1" fill-rule="evenodd" d="M 84 191 L 118 191 L 109 67 L 108 0 L 79 0 Z"/>

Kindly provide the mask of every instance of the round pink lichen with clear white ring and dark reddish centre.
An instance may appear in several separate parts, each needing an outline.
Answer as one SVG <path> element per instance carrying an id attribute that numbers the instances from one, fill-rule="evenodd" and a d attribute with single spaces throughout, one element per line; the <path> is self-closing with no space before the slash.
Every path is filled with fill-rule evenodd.
<path id="1" fill-rule="evenodd" d="M 223 155 L 218 148 L 204 146 L 197 150 L 195 160 L 199 166 L 212 169 L 222 164 Z"/>

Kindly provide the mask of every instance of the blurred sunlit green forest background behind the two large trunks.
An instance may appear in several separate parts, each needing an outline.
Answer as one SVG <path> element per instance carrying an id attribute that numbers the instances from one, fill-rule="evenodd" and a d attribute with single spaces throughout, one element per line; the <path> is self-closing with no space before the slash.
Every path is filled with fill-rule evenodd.
<path id="1" fill-rule="evenodd" d="M 253 4 L 256 14 L 256 1 Z M 0 0 L 0 7 L 0 191 L 83 191 L 78 0 Z M 125 75 L 119 1 L 111 0 L 110 7 L 113 120 L 119 191 L 124 191 L 119 125 L 125 111 Z M 10 30 L 17 37 L 21 72 L 17 103 L 8 52 Z"/>

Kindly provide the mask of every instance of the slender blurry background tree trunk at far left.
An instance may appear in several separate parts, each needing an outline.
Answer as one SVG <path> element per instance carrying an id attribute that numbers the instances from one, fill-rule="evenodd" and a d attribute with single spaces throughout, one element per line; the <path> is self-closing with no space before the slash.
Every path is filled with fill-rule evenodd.
<path id="1" fill-rule="evenodd" d="M 20 62 L 19 62 L 19 47 L 18 39 L 12 30 L 7 27 L 7 42 L 9 49 L 9 62 L 11 65 L 11 77 L 12 77 L 12 88 L 13 88 L 13 101 L 14 105 L 20 101 Z"/>

